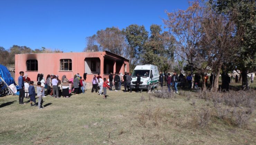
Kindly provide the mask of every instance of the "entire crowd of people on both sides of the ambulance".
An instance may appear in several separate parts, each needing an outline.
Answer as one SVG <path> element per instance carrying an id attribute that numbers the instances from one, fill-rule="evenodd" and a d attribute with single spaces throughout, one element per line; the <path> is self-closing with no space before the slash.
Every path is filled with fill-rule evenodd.
<path id="1" fill-rule="evenodd" d="M 86 91 L 86 73 L 82 76 L 79 74 L 74 75 L 73 78 L 67 79 L 66 75 L 63 75 L 61 79 L 59 79 L 58 75 L 47 75 L 46 79 L 44 77 L 44 74 L 38 74 L 37 75 L 37 96 L 38 96 L 38 107 L 39 109 L 42 107 L 43 98 L 49 95 L 50 97 L 54 98 L 61 98 L 61 96 L 65 98 L 69 98 L 72 93 L 73 95 L 78 95 L 80 93 L 85 93 Z M 145 74 L 144 76 L 147 76 L 148 74 Z M 212 85 L 214 83 L 214 78 L 216 76 L 213 76 L 213 74 L 210 75 L 210 84 Z M 137 74 L 137 80 L 135 81 L 135 90 L 136 92 L 142 91 L 140 86 L 140 75 Z M 201 76 L 198 73 L 195 73 L 195 75 L 188 74 L 188 76 L 184 76 L 182 73 L 180 75 L 177 74 L 177 72 L 171 73 L 165 73 L 165 75 L 160 71 L 159 74 L 159 84 L 161 88 L 163 88 L 164 84 L 167 86 L 168 90 L 175 91 L 175 93 L 178 93 L 177 85 L 181 88 L 185 88 L 185 86 L 188 86 L 189 89 L 192 89 L 194 85 L 198 85 L 200 83 Z M 113 91 L 113 86 L 115 86 L 115 91 L 121 90 L 121 84 L 124 85 L 124 92 L 132 92 L 131 91 L 131 74 L 129 72 L 125 72 L 124 75 L 121 75 L 120 73 L 115 73 L 115 76 L 113 76 L 113 73 L 110 72 L 109 78 L 102 78 L 100 74 L 98 76 L 94 75 L 92 79 L 92 89 L 91 93 L 98 93 L 98 95 L 103 95 L 103 99 L 107 98 L 107 89 L 109 91 Z M 236 83 L 239 81 L 238 76 L 235 76 Z M 201 82 L 202 83 L 202 82 Z M 205 74 L 204 76 L 204 83 L 206 86 L 208 86 L 208 75 Z M 226 74 L 222 76 L 222 88 L 226 89 L 228 91 L 229 89 L 229 83 L 230 83 L 230 77 Z M 186 85 L 187 84 L 187 85 Z M 24 75 L 23 71 L 20 71 L 20 77 L 18 78 L 18 87 L 19 87 L 19 104 L 24 104 L 23 100 L 25 98 L 30 98 L 30 104 L 31 106 L 37 106 L 36 105 L 36 91 L 34 88 L 34 81 L 31 81 L 31 79 L 28 77 L 27 74 Z M 46 92 L 45 92 L 46 89 Z M 34 105 L 33 105 L 34 102 Z"/>

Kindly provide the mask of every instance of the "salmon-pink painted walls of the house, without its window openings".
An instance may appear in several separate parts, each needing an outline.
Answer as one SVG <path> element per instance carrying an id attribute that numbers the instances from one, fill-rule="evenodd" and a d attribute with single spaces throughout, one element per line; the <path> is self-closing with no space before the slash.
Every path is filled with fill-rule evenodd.
<path id="1" fill-rule="evenodd" d="M 75 74 L 79 73 L 83 77 L 84 74 L 84 59 L 87 57 L 98 57 L 101 61 L 100 75 L 103 76 L 103 66 L 104 66 L 104 56 L 106 52 L 68 52 L 68 53 L 42 53 L 42 54 L 18 54 L 15 55 L 15 78 L 16 81 L 19 77 L 19 72 L 24 71 L 25 74 L 28 74 L 28 77 L 36 81 L 37 74 L 44 74 L 44 77 L 49 74 L 58 75 L 59 78 L 63 75 L 67 76 L 67 79 L 73 78 Z M 110 56 L 108 53 L 107 56 Z M 110 56 L 113 59 L 120 59 L 116 55 Z M 26 71 L 26 61 L 28 59 L 36 59 L 38 61 L 38 71 Z M 72 71 L 60 71 L 60 59 L 71 59 L 72 60 Z M 129 62 L 126 59 L 124 64 L 129 70 Z M 124 64 L 122 68 L 124 67 Z M 124 69 L 121 69 L 120 72 L 124 74 Z M 94 74 L 87 75 L 86 82 L 91 82 Z"/>

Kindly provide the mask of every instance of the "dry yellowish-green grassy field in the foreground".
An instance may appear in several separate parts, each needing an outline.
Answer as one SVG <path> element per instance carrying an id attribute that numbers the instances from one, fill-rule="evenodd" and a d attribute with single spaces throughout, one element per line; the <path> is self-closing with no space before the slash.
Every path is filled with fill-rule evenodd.
<path id="1" fill-rule="evenodd" d="M 193 114 L 212 103 L 182 91 L 161 99 L 143 93 L 108 91 L 44 99 L 44 109 L 0 98 L 0 144 L 255 144 L 256 113 L 247 128 L 214 119 L 193 127 Z M 188 96 L 190 99 L 188 99 Z M 28 99 L 24 99 L 27 101 Z"/>

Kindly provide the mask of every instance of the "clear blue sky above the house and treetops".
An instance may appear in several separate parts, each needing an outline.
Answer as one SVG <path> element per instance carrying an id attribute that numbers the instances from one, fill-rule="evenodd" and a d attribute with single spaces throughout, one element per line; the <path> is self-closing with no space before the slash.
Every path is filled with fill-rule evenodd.
<path id="1" fill-rule="evenodd" d="M 138 24 L 149 31 L 164 26 L 165 10 L 187 7 L 187 0 L 0 0 L 0 46 L 80 52 L 98 30 Z"/>

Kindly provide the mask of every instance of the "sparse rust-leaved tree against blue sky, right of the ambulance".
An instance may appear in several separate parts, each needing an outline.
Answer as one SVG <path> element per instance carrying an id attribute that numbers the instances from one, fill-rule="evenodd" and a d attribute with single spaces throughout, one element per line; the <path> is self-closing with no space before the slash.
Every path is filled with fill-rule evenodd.
<path id="1" fill-rule="evenodd" d="M 199 2 L 190 3 L 187 10 L 167 12 L 168 19 L 163 20 L 170 33 L 176 38 L 175 54 L 190 66 L 191 74 L 195 68 L 194 51 L 201 37 L 202 7 Z"/>

